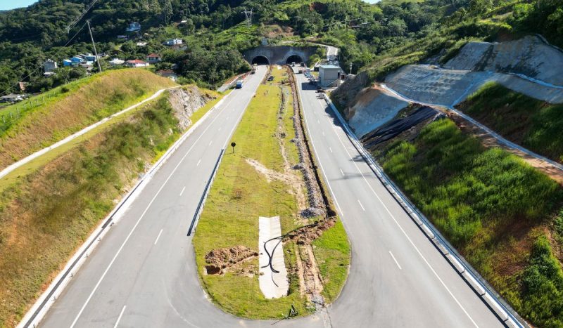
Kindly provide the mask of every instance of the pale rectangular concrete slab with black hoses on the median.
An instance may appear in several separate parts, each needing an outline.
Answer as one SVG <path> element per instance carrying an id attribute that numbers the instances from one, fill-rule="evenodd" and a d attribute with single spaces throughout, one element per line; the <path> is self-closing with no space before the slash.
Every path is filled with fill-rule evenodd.
<path id="1" fill-rule="evenodd" d="M 284 261 L 283 244 L 279 240 L 272 240 L 265 245 L 265 242 L 274 237 L 281 235 L 281 225 L 279 223 L 279 216 L 265 218 L 260 216 L 258 222 L 258 249 L 260 256 L 258 263 L 260 264 L 260 276 L 258 282 L 260 290 L 266 299 L 279 299 L 280 297 L 287 296 L 289 290 L 289 280 L 287 280 L 287 269 Z M 264 249 L 266 246 L 267 252 Z M 277 245 L 277 247 L 276 247 Z M 275 250 L 274 250 L 275 247 Z M 272 255 L 272 266 L 274 270 L 279 271 L 274 273 L 270 267 L 270 256 Z"/>

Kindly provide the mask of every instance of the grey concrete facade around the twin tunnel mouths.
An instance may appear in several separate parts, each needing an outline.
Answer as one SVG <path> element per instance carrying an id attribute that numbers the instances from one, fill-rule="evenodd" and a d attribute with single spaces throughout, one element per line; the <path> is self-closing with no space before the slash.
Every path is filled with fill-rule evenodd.
<path id="1" fill-rule="evenodd" d="M 305 63 L 316 51 L 316 46 L 259 46 L 244 51 L 243 57 L 250 64 L 284 65 L 292 62 Z"/>

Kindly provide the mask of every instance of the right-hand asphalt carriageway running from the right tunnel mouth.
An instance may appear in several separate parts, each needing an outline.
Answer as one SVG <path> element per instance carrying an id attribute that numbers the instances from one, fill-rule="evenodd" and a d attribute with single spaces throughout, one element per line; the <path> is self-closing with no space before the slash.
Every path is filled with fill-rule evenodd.
<path id="1" fill-rule="evenodd" d="M 412 222 L 297 74 L 305 122 L 352 244 L 333 327 L 502 327 Z"/>

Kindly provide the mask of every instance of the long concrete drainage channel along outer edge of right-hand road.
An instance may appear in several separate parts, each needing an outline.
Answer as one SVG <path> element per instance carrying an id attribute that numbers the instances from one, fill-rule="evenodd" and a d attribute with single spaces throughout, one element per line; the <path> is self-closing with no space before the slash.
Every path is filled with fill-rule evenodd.
<path id="1" fill-rule="evenodd" d="M 327 101 L 329 107 L 334 112 L 336 117 L 338 117 L 339 122 L 343 126 L 344 131 L 346 131 L 346 136 L 353 143 L 354 147 L 362 157 L 365 159 L 369 167 L 374 171 L 377 178 L 385 185 L 387 190 L 391 192 L 391 195 L 396 199 L 396 201 L 403 206 L 403 209 L 412 218 L 412 221 L 419 226 L 420 230 L 424 232 L 426 237 L 431 240 L 434 246 L 441 251 L 441 254 L 448 260 L 450 265 L 457 270 L 457 273 L 463 277 L 463 279 L 469 284 L 469 286 L 476 292 L 476 294 L 481 297 L 483 302 L 493 310 L 493 313 L 505 324 L 507 327 L 526 327 L 529 325 L 514 311 L 504 300 L 494 291 L 494 289 L 489 286 L 486 280 L 472 268 L 469 263 L 467 263 L 460 254 L 457 253 L 454 247 L 450 245 L 448 241 L 441 235 L 440 232 L 432 225 L 428 218 L 424 216 L 414 204 L 407 199 L 403 192 L 391 181 L 383 169 L 377 164 L 374 157 L 372 157 L 367 150 L 362 146 L 360 140 L 355 136 L 355 134 L 350 131 L 348 124 L 344 121 L 340 112 L 336 109 L 330 98 L 325 94 L 324 100 Z"/>

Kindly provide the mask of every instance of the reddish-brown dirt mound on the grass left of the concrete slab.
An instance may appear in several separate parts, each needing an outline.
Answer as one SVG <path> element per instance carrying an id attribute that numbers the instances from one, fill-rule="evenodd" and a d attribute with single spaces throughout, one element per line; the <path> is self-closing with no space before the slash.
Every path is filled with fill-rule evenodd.
<path id="1" fill-rule="evenodd" d="M 208 275 L 222 275 L 235 265 L 257 256 L 257 251 L 241 245 L 231 248 L 213 249 L 205 255 L 205 273 Z M 239 268 L 238 272 L 248 275 L 251 273 L 251 270 Z M 253 270 L 252 273 L 254 272 Z"/>

